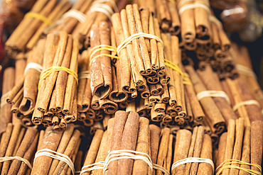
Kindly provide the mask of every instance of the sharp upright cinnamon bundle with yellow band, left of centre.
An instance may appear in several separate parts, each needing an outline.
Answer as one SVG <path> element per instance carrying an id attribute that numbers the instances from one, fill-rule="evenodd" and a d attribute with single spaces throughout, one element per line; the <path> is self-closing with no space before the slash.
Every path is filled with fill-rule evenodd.
<path id="1" fill-rule="evenodd" d="M 78 51 L 77 40 L 65 32 L 47 36 L 33 124 L 60 130 L 77 120 Z"/>

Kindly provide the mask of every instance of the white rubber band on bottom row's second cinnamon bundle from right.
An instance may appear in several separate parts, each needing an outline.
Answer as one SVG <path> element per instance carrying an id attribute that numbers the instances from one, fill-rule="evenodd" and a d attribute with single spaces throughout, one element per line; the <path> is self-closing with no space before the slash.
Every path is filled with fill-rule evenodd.
<path id="1" fill-rule="evenodd" d="M 181 164 L 186 164 L 186 163 L 208 163 L 212 166 L 213 174 L 214 174 L 215 166 L 214 166 L 213 161 L 211 159 L 205 159 L 205 158 L 201 158 L 201 157 L 188 157 L 186 159 L 178 160 L 178 161 L 173 163 L 171 171 L 173 171 L 173 169 L 176 169 L 177 166 L 179 166 Z"/>

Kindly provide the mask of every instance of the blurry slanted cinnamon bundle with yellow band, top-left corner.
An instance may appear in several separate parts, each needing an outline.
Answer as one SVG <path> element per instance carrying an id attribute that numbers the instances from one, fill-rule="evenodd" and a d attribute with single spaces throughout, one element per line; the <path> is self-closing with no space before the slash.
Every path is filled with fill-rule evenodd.
<path id="1" fill-rule="evenodd" d="M 65 11 L 70 9 L 68 1 L 36 1 L 31 11 L 14 30 L 9 40 L 6 41 L 6 50 L 11 57 L 17 52 L 31 50 L 38 42 L 43 30 L 57 21 Z"/>

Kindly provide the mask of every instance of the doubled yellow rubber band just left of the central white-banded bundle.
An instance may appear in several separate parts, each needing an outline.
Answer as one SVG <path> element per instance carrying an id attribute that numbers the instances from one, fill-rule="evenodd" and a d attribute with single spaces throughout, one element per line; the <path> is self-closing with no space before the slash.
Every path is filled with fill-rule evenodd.
<path id="1" fill-rule="evenodd" d="M 100 55 L 97 55 L 96 57 L 93 57 L 93 55 L 95 55 L 96 52 L 99 52 L 101 50 L 109 50 L 110 52 L 117 52 L 117 48 L 113 47 L 111 45 L 97 45 L 97 46 L 93 47 L 92 50 L 90 50 L 90 52 L 92 53 L 90 55 L 90 65 L 92 64 L 93 60 L 95 60 L 97 57 L 100 57 L 100 56 L 107 56 L 107 57 L 112 57 L 112 58 L 115 58 L 115 59 L 119 59 L 118 56 L 109 55 L 109 54 L 106 54 L 106 53 L 102 53 Z"/>

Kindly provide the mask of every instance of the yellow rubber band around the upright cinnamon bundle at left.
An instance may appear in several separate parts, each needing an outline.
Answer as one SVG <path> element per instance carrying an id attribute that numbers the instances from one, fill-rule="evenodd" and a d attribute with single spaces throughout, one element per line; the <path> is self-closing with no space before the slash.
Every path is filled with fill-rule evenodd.
<path id="1" fill-rule="evenodd" d="M 74 72 L 71 69 L 68 69 L 67 67 L 53 66 L 53 67 L 48 67 L 48 69 L 45 69 L 43 72 L 41 72 L 41 76 L 39 77 L 38 89 L 41 86 L 41 82 L 44 79 L 46 79 L 52 72 L 56 72 L 56 71 L 65 71 L 68 74 L 71 74 L 78 84 L 78 78 L 76 72 Z"/>

